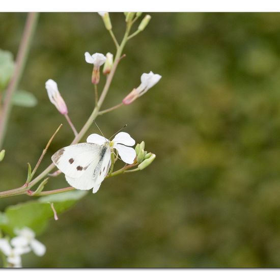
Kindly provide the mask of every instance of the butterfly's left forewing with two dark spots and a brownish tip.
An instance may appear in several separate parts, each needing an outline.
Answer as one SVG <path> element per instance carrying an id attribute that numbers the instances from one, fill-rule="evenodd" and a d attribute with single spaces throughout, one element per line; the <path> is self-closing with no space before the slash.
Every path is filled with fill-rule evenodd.
<path id="1" fill-rule="evenodd" d="M 98 164 L 103 147 L 93 143 L 71 145 L 57 151 L 51 159 L 66 176 L 79 178 L 88 171 L 90 165 Z"/>

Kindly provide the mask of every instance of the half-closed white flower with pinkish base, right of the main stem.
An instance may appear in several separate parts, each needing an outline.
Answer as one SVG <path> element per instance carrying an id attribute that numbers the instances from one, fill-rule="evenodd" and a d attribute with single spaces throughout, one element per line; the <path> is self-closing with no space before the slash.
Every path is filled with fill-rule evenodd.
<path id="1" fill-rule="evenodd" d="M 152 88 L 160 79 L 161 76 L 159 74 L 154 74 L 152 71 L 150 71 L 150 73 L 143 73 L 141 75 L 141 85 L 137 89 L 133 89 L 123 99 L 123 103 L 125 105 L 132 103 L 135 99 L 142 96 L 150 88 Z"/>

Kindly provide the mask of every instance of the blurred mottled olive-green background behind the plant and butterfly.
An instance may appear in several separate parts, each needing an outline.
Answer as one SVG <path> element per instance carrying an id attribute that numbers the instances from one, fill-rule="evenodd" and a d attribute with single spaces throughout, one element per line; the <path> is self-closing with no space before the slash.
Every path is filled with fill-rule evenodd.
<path id="1" fill-rule="evenodd" d="M 137 87 L 143 72 L 162 79 L 97 123 L 107 137 L 127 123 L 125 131 L 145 140 L 156 160 L 142 172 L 105 180 L 97 194 L 89 191 L 51 221 L 38 237 L 46 255 L 23 256 L 23 266 L 279 267 L 280 14 L 151 15 L 127 44 L 103 108 Z M 0 14 L 0 48 L 16 54 L 25 18 Z M 120 39 L 124 15 L 111 13 L 111 21 Z M 26 162 L 34 166 L 60 123 L 39 171 L 72 140 L 48 100 L 47 79 L 58 82 L 77 129 L 89 117 L 94 94 L 85 51 L 115 51 L 97 13 L 40 15 L 19 86 L 39 103 L 12 110 L 1 190 L 22 185 Z M 66 186 L 64 176 L 47 184 Z M 2 199 L 0 211 L 30 199 Z"/>

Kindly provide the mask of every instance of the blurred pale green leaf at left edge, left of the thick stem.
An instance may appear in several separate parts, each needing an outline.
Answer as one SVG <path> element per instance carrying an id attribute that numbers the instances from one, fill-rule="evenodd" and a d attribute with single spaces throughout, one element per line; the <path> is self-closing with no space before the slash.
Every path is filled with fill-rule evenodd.
<path id="1" fill-rule="evenodd" d="M 0 89 L 7 87 L 15 68 L 13 54 L 8 50 L 0 49 Z"/>

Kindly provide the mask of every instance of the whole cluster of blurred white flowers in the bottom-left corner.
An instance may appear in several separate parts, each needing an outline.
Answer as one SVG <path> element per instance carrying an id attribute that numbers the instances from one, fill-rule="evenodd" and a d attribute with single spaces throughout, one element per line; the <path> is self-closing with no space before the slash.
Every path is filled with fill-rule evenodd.
<path id="1" fill-rule="evenodd" d="M 7 257 L 10 267 L 21 267 L 21 255 L 33 251 L 37 256 L 43 256 L 46 252 L 44 244 L 35 239 L 35 233 L 30 228 L 15 230 L 16 237 L 10 242 L 6 238 L 0 238 L 0 251 Z"/>

